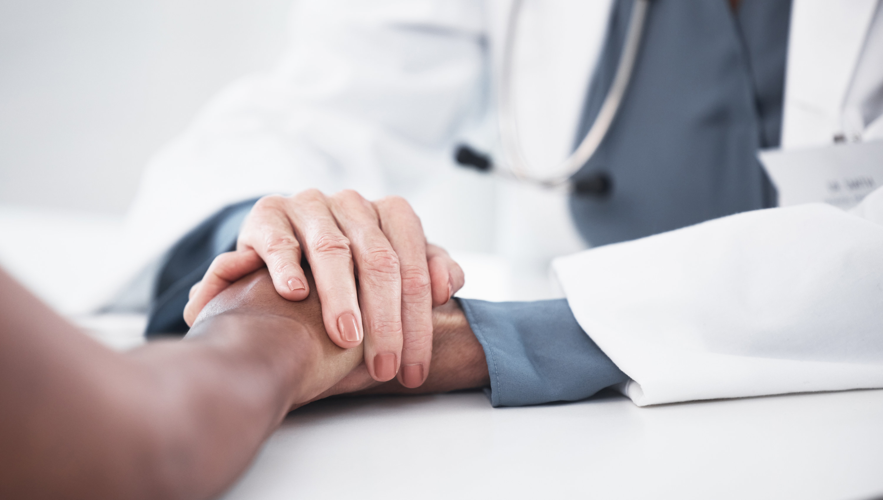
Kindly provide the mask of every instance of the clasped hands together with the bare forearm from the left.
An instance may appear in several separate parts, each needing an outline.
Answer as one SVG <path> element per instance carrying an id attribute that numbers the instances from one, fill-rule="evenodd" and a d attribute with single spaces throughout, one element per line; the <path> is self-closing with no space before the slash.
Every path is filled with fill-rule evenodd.
<path id="1" fill-rule="evenodd" d="M 407 203 L 354 192 L 262 199 L 183 341 L 113 352 L 0 269 L 0 497 L 214 498 L 300 405 L 487 385 L 462 284 Z"/>

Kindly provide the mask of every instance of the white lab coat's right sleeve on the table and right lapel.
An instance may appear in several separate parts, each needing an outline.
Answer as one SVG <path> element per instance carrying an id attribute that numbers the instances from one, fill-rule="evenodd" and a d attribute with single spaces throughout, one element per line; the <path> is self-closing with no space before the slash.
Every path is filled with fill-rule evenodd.
<path id="1" fill-rule="evenodd" d="M 844 118 L 854 75 L 868 74 L 857 63 L 883 49 L 877 9 L 795 2 L 783 148 L 841 133 L 883 139 L 883 117 Z M 555 269 L 638 405 L 883 387 L 883 188 L 850 212 L 757 210 L 562 257 Z"/>

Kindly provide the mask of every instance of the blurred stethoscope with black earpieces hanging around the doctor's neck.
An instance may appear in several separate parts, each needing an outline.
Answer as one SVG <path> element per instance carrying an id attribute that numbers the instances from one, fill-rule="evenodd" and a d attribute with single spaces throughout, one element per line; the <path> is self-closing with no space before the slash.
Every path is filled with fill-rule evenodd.
<path id="1" fill-rule="evenodd" d="M 481 154 L 465 144 L 457 147 L 454 157 L 457 163 L 464 166 L 495 173 L 506 178 L 515 178 L 535 186 L 557 189 L 567 186 L 570 178 L 592 158 L 592 155 L 598 150 L 601 140 L 604 140 L 604 136 L 607 135 L 610 125 L 613 123 L 616 111 L 619 110 L 620 103 L 623 102 L 626 87 L 629 86 L 631 74 L 635 67 L 635 60 L 638 58 L 638 47 L 641 42 L 650 0 L 636 0 L 631 9 L 623 53 L 619 57 L 619 64 L 616 66 L 613 83 L 610 85 L 610 89 L 601 103 L 598 116 L 595 117 L 592 126 L 585 133 L 585 137 L 580 141 L 579 146 L 561 163 L 558 163 L 555 169 L 552 170 L 555 173 L 548 177 L 538 177 L 531 173 L 537 170 L 533 170 L 530 167 L 521 149 L 521 143 L 518 140 L 519 134 L 515 109 L 512 103 L 512 66 L 518 16 L 522 4 L 524 4 L 524 0 L 514 0 L 509 11 L 498 91 L 499 111 L 497 113 L 497 126 L 500 132 L 503 163 L 508 168 L 500 169 L 498 165 L 494 164 L 490 156 Z M 573 186 L 577 192 L 596 194 L 608 193 L 610 187 L 610 178 L 603 173 L 583 179 Z"/>

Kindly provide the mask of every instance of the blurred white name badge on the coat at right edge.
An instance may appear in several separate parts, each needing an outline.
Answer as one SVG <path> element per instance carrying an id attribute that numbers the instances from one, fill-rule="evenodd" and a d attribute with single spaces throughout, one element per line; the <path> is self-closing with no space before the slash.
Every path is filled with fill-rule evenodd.
<path id="1" fill-rule="evenodd" d="M 883 140 L 767 150 L 759 157 L 780 207 L 822 201 L 848 209 L 883 186 Z"/>

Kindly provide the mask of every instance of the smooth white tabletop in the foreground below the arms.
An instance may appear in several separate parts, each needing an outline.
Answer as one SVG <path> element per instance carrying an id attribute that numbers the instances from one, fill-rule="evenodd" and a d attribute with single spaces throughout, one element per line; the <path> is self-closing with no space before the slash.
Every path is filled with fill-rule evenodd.
<path id="1" fill-rule="evenodd" d="M 883 390 L 639 408 L 480 392 L 298 409 L 225 500 L 883 497 Z"/>

